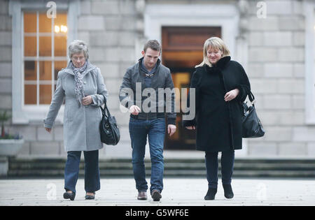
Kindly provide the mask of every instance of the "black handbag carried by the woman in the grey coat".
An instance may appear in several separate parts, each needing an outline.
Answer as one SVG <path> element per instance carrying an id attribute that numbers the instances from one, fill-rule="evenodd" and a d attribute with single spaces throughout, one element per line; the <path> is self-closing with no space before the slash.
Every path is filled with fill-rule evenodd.
<path id="1" fill-rule="evenodd" d="M 106 98 L 104 97 L 104 100 Z M 116 122 L 116 118 L 111 116 L 109 112 L 109 108 L 106 106 L 106 102 L 104 108 L 100 106 L 102 109 L 102 120 L 99 123 L 99 131 L 101 133 L 101 141 L 106 145 L 117 145 L 120 140 L 120 132 L 118 129 L 118 125 Z"/>

